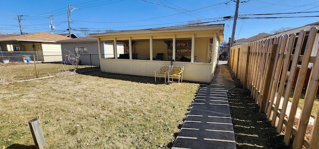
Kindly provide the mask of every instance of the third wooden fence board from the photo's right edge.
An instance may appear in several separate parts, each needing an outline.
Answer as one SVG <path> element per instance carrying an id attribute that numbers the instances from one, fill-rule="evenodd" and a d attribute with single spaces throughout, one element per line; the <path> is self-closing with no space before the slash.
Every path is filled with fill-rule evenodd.
<path id="1" fill-rule="evenodd" d="M 287 86 L 286 86 L 283 106 L 282 106 L 281 113 L 280 113 L 280 118 L 279 118 L 279 121 L 278 121 L 277 132 L 281 132 L 281 129 L 282 129 L 283 123 L 284 123 L 284 119 L 286 117 L 286 110 L 287 110 L 287 106 L 288 106 L 290 92 L 291 92 L 291 89 L 293 87 L 293 82 L 294 82 L 294 78 L 295 78 L 295 72 L 296 72 L 297 63 L 298 63 L 298 57 L 299 57 L 300 52 L 301 52 L 301 48 L 302 48 L 302 44 L 303 44 L 304 38 L 305 38 L 305 30 L 301 30 L 299 32 L 299 37 L 298 37 L 298 40 L 297 40 L 297 43 L 296 43 L 296 48 L 295 48 L 295 53 L 294 53 L 294 58 L 293 58 L 293 62 L 291 64 L 290 75 L 289 75 L 288 81 L 287 81 Z M 290 135 L 289 135 L 289 137 L 290 137 Z"/>

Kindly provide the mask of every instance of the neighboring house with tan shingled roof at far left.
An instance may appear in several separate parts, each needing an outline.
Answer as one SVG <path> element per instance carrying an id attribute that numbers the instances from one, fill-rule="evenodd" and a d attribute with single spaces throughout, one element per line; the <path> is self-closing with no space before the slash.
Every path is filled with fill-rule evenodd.
<path id="1" fill-rule="evenodd" d="M 47 32 L 5 36 L 0 36 L 1 55 L 35 55 L 35 59 L 42 62 L 62 61 L 61 45 L 56 41 L 70 39 L 69 37 Z M 21 58 L 11 60 L 17 61 L 21 60 Z"/>

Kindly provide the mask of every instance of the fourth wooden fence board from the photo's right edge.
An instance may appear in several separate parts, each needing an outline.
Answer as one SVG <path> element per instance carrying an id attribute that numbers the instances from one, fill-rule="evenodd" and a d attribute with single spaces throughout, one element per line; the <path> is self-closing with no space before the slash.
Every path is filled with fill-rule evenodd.
<path id="1" fill-rule="evenodd" d="M 275 127 L 277 114 L 278 114 L 278 110 L 279 110 L 279 106 L 280 106 L 280 101 L 281 101 L 281 97 L 283 95 L 283 91 L 284 91 L 284 87 L 285 87 L 285 83 L 286 83 L 287 71 L 288 71 L 288 67 L 289 67 L 289 63 L 290 63 L 290 55 L 291 55 L 292 49 L 294 48 L 295 38 L 296 38 L 296 34 L 290 35 L 289 42 L 288 42 L 289 45 L 287 48 L 284 66 L 283 66 L 283 70 L 282 70 L 282 75 L 281 75 L 281 79 L 280 79 L 280 84 L 278 87 L 278 94 L 277 94 L 276 104 L 275 104 L 275 108 L 274 108 L 274 112 L 273 112 L 273 118 L 271 120 L 271 125 L 273 127 Z M 280 134 L 281 129 L 282 128 L 280 128 L 280 130 L 277 130 L 277 133 Z"/>

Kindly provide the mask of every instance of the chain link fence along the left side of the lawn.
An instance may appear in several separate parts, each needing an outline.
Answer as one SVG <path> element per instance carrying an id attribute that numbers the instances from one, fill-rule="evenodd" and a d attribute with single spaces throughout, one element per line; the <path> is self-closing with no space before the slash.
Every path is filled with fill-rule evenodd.
<path id="1" fill-rule="evenodd" d="M 55 76 L 78 69 L 92 71 L 100 69 L 98 54 L 79 54 L 78 66 L 71 64 L 75 55 L 43 55 L 42 52 L 1 52 L 0 84 Z"/>

